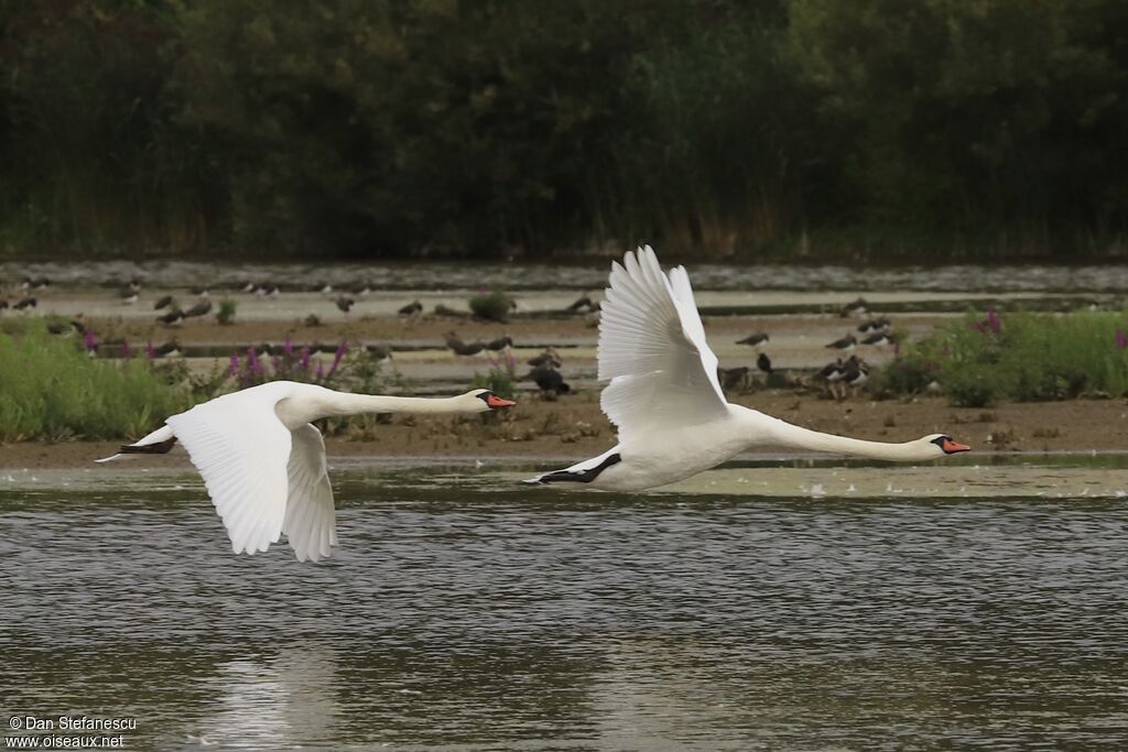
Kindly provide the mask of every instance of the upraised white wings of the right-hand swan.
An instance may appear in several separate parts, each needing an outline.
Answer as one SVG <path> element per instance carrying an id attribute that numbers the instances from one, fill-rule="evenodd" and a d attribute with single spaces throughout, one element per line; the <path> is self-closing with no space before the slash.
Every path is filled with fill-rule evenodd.
<path id="1" fill-rule="evenodd" d="M 610 383 L 600 406 L 623 442 L 724 417 L 716 366 L 684 267 L 667 276 L 650 246 L 611 264 L 599 324 L 599 379 Z"/>

